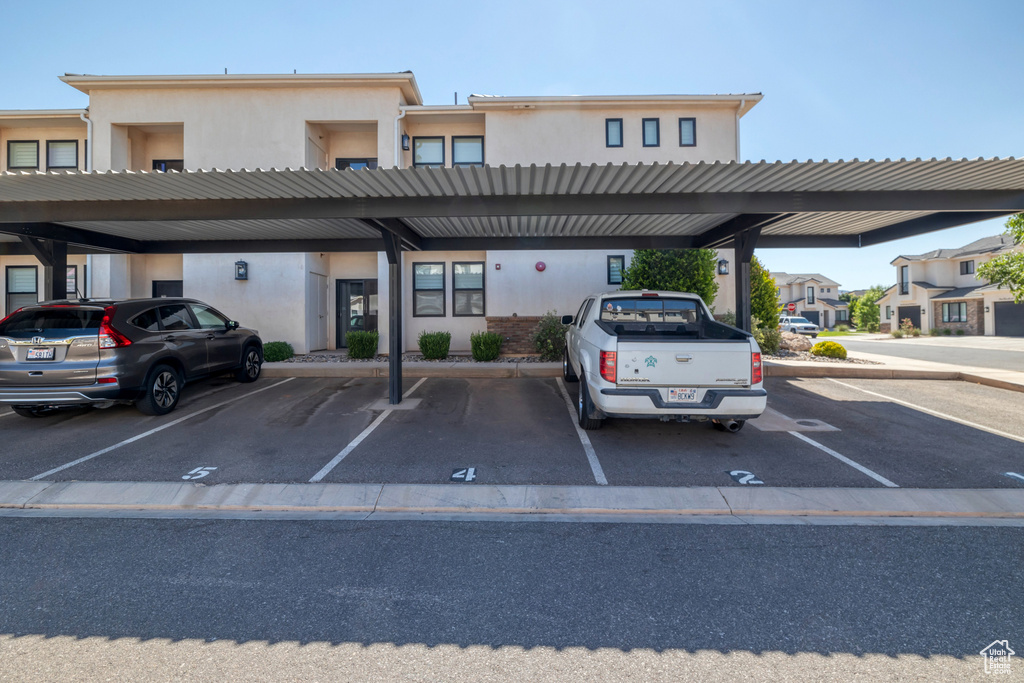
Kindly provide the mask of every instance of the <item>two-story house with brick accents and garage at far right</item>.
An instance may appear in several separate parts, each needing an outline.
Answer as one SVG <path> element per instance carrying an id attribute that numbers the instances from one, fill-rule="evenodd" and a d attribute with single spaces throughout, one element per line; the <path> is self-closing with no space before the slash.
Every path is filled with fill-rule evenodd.
<path id="1" fill-rule="evenodd" d="M 915 328 L 954 334 L 1024 336 L 1024 304 L 1009 290 L 975 274 L 986 261 L 1018 249 L 1009 234 L 972 242 L 959 249 L 936 249 L 916 256 L 897 256 L 896 285 L 879 299 L 883 332 L 909 318 Z"/>

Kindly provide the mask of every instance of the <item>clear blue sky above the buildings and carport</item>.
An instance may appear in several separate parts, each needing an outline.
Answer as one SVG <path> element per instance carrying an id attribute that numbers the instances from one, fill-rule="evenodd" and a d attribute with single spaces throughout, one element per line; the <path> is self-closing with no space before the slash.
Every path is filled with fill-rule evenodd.
<path id="1" fill-rule="evenodd" d="M 427 103 L 467 94 L 762 92 L 742 157 L 1024 155 L 1021 0 L 8 2 L 0 109 L 87 104 L 87 74 L 416 74 Z M 985 221 L 863 250 L 760 250 L 844 289 L 889 261 L 1002 230 Z"/>

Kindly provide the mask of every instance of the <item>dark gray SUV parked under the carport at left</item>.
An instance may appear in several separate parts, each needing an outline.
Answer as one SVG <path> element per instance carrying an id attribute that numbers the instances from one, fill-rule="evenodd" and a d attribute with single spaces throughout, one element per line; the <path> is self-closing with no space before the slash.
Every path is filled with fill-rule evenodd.
<path id="1" fill-rule="evenodd" d="M 72 405 L 177 405 L 200 377 L 259 378 L 263 343 L 193 299 L 44 301 L 0 321 L 0 404 L 25 417 Z"/>

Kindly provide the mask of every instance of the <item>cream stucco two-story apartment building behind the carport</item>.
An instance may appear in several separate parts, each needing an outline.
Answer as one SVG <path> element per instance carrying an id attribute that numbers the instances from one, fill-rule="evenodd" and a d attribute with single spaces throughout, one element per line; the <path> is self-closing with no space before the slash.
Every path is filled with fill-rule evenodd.
<path id="1" fill-rule="evenodd" d="M 87 110 L 0 112 L 0 168 L 11 172 L 175 172 L 310 168 L 729 162 L 739 120 L 760 94 L 488 96 L 424 104 L 412 73 L 61 78 Z M 440 220 L 440 219 L 439 219 Z M 586 219 L 574 219 L 586 220 Z M 614 218 L 592 219 L 600 233 Z M 317 222 L 324 239 L 330 220 Z M 240 229 L 243 226 L 240 225 Z M 259 221 L 244 229 L 265 239 Z M 536 316 L 573 312 L 614 290 L 629 250 L 406 252 L 404 345 L 420 332 L 502 329 L 515 350 Z M 719 254 L 717 312 L 734 308 L 730 250 Z M 36 300 L 41 268 L 0 251 L 3 312 Z M 240 272 L 245 276 L 241 278 Z M 73 254 L 69 292 L 90 297 L 187 296 L 297 352 L 345 345 L 386 310 L 383 252 Z M 383 331 L 382 331 L 383 332 Z M 382 335 L 383 336 L 383 335 Z M 386 349 L 382 339 L 382 349 Z M 523 349 L 525 350 L 525 349 Z"/>

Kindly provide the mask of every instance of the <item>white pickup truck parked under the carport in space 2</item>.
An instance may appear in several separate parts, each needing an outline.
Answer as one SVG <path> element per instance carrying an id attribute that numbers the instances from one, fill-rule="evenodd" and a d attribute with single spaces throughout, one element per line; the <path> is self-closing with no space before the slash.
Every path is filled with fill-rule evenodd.
<path id="1" fill-rule="evenodd" d="M 767 402 L 753 335 L 715 321 L 695 294 L 593 294 L 563 315 L 562 376 L 580 383 L 580 426 L 606 417 L 711 420 L 739 431 Z"/>

